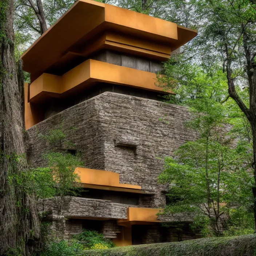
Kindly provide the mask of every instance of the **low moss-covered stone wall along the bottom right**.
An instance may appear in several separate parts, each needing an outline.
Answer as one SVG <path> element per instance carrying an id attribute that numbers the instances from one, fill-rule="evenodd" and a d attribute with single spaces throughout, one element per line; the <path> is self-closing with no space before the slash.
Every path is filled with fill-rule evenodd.
<path id="1" fill-rule="evenodd" d="M 84 256 L 256 256 L 256 235 L 88 250 Z"/>

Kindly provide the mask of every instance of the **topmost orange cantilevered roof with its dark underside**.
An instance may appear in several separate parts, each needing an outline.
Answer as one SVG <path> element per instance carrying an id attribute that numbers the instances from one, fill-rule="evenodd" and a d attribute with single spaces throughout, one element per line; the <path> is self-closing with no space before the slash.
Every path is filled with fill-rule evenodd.
<path id="1" fill-rule="evenodd" d="M 32 80 L 62 75 L 100 49 L 159 61 L 197 35 L 196 31 L 92 0 L 78 0 L 21 56 Z M 75 63 L 75 64 L 72 64 Z"/>

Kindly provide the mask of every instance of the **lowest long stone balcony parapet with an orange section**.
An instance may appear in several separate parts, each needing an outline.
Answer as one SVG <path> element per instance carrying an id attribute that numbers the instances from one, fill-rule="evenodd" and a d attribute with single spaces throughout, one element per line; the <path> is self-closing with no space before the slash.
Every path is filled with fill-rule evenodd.
<path id="1" fill-rule="evenodd" d="M 56 219 L 58 215 L 58 197 L 39 200 L 39 212 L 49 212 L 48 219 Z M 176 213 L 173 215 L 157 215 L 161 209 L 143 208 L 140 205 L 112 203 L 110 200 L 89 199 L 66 196 L 62 207 L 62 216 L 67 219 L 117 220 L 121 226 L 132 224 L 152 224 L 159 222 L 192 222 L 195 213 Z"/>

